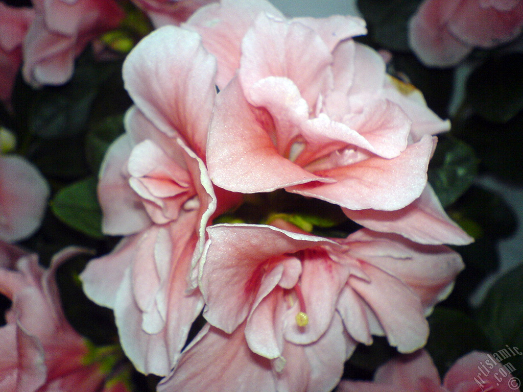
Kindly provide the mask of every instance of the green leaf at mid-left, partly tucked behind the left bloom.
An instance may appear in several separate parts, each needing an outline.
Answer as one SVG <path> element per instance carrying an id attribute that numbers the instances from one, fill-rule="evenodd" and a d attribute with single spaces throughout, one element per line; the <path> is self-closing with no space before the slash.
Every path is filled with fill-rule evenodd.
<path id="1" fill-rule="evenodd" d="M 65 224 L 88 236 L 101 238 L 101 210 L 96 198 L 95 177 L 61 189 L 51 202 L 51 210 Z"/>

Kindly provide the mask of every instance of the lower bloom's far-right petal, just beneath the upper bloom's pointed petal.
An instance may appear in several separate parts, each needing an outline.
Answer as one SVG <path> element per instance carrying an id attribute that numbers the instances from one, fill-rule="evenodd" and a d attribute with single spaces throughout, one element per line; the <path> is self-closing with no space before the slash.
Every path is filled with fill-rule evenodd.
<path id="1" fill-rule="evenodd" d="M 454 279 L 464 268 L 459 254 L 442 245 L 420 245 L 367 229 L 351 234 L 347 241 L 353 248 L 352 257 L 389 273 L 416 293 L 425 314 L 449 295 Z"/>

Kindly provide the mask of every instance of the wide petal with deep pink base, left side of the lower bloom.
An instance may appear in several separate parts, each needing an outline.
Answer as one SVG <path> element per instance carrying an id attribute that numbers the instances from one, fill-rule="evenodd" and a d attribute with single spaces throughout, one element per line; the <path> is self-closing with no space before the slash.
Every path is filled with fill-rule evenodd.
<path id="1" fill-rule="evenodd" d="M 200 261 L 200 290 L 207 304 L 204 316 L 224 331 L 233 331 L 245 320 L 265 279 L 273 287 L 278 283 L 282 270 L 266 276 L 289 259 L 282 255 L 330 243 L 265 225 L 215 225 L 207 233 L 209 241 Z"/>

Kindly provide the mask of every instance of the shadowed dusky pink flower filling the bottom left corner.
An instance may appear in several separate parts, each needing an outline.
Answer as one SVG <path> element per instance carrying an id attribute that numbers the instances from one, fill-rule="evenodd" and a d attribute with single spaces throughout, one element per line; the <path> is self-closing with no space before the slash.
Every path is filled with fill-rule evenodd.
<path id="1" fill-rule="evenodd" d="M 38 265 L 36 255 L 0 243 L 0 293 L 12 301 L 7 324 L 0 328 L 1 390 L 127 390 L 119 382 L 104 387 L 107 374 L 101 362 L 87 361 L 86 340 L 62 312 L 54 275 L 67 258 L 79 252 L 76 248 L 64 249 L 45 270 Z"/>

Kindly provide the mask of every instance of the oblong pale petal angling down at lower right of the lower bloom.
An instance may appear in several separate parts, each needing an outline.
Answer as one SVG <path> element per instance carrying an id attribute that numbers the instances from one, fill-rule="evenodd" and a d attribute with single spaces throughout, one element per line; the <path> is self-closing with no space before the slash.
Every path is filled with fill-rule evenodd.
<path id="1" fill-rule="evenodd" d="M 399 279 L 371 264 L 361 263 L 361 269 L 370 282 L 351 276 L 347 284 L 369 304 L 389 344 L 400 352 L 413 352 L 423 347 L 428 337 L 428 324 L 420 298 Z"/>

